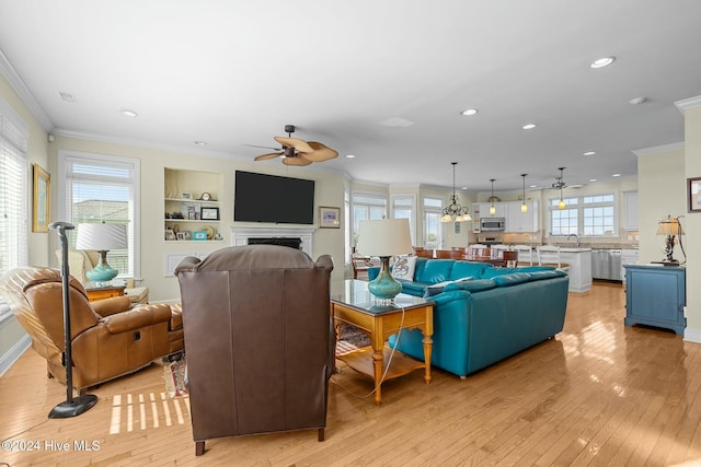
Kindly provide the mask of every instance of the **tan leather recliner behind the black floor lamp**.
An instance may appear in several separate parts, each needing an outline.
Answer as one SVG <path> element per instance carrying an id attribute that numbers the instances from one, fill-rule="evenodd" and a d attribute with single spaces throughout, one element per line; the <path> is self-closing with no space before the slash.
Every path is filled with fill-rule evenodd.
<path id="1" fill-rule="evenodd" d="M 0 278 L 0 293 L 47 361 L 49 376 L 66 383 L 64 293 L 60 271 L 20 268 Z M 89 302 L 85 289 L 69 280 L 76 389 L 133 373 L 183 350 L 182 316 L 166 304 L 131 307 L 127 296 Z"/>

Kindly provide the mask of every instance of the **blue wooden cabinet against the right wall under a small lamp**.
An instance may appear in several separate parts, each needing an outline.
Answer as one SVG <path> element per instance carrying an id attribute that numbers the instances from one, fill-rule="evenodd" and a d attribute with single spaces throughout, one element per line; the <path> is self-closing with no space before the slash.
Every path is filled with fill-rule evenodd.
<path id="1" fill-rule="evenodd" d="M 636 324 L 673 329 L 683 335 L 687 318 L 687 276 L 673 266 L 624 265 L 625 326 Z"/>

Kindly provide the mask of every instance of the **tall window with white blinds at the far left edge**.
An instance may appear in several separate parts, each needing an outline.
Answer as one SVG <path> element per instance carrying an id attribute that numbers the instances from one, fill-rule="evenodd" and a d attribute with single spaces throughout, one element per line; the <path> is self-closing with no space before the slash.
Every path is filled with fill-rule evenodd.
<path id="1" fill-rule="evenodd" d="M 27 137 L 24 122 L 0 100 L 0 275 L 28 262 Z M 0 297 L 0 322 L 9 316 Z"/>

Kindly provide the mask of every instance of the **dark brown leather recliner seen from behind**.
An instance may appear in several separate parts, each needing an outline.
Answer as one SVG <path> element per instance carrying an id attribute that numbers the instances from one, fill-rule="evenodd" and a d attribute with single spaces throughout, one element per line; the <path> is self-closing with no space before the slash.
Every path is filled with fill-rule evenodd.
<path id="1" fill-rule="evenodd" d="M 215 437 L 318 429 L 323 441 L 332 270 L 327 255 L 275 245 L 177 266 L 196 455 Z"/>

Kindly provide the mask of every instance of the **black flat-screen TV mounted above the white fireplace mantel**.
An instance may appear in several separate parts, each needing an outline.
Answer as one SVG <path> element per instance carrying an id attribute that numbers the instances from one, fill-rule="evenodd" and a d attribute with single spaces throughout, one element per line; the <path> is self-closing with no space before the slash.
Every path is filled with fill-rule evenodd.
<path id="1" fill-rule="evenodd" d="M 235 171 L 233 220 L 314 223 L 314 180 Z"/>

